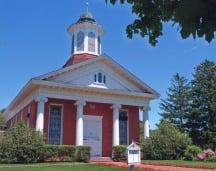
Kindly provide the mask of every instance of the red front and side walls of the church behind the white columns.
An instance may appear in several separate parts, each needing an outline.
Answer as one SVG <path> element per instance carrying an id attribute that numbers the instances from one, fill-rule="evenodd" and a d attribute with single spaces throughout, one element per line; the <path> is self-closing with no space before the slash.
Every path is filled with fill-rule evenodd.
<path id="1" fill-rule="evenodd" d="M 76 106 L 73 100 L 60 100 L 60 99 L 49 99 L 45 104 L 45 116 L 44 116 L 44 135 L 47 137 L 48 124 L 49 124 L 49 106 L 52 104 L 63 105 L 63 144 L 75 145 L 76 138 Z M 30 118 L 27 118 L 28 108 L 30 106 Z M 112 154 L 112 129 L 113 129 L 113 110 L 111 104 L 102 103 L 90 103 L 88 102 L 84 107 L 84 114 L 103 116 L 102 120 L 102 155 L 111 156 Z M 136 106 L 123 106 L 122 109 L 128 111 L 129 118 L 129 143 L 132 140 L 139 142 L 139 108 Z M 31 102 L 16 116 L 11 118 L 10 122 L 15 123 L 21 119 L 21 112 L 23 112 L 23 120 L 29 121 L 30 127 L 35 128 L 36 125 L 36 113 L 37 113 L 37 102 Z M 17 119 L 16 119 L 17 117 Z"/>

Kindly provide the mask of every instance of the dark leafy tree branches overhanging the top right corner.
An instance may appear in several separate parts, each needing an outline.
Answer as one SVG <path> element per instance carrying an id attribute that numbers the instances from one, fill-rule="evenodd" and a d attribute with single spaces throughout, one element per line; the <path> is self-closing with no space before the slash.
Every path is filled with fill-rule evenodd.
<path id="1" fill-rule="evenodd" d="M 118 0 L 106 0 L 115 4 Z M 136 19 L 127 26 L 129 38 L 134 34 L 148 36 L 153 46 L 158 37 L 163 35 L 163 24 L 170 22 L 177 25 L 183 39 L 190 35 L 204 37 L 211 42 L 216 31 L 216 1 L 215 0 L 120 0 L 132 7 Z"/>

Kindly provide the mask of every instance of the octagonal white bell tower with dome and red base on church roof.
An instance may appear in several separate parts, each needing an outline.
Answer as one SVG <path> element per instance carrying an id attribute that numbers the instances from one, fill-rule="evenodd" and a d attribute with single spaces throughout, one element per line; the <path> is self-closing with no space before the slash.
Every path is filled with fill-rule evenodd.
<path id="1" fill-rule="evenodd" d="M 104 29 L 88 11 L 88 6 L 86 12 L 76 23 L 71 24 L 67 31 L 72 37 L 72 46 L 71 58 L 64 67 L 100 56 Z"/>

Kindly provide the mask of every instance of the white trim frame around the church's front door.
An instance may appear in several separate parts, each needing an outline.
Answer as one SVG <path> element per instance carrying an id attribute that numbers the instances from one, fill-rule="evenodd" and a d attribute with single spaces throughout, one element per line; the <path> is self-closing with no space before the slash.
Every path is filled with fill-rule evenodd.
<path id="1" fill-rule="evenodd" d="M 85 127 L 85 121 L 87 120 L 92 120 L 92 121 L 98 121 L 100 122 L 99 124 L 99 130 L 100 130 L 100 156 L 102 156 L 103 153 L 103 116 L 98 116 L 98 115 L 83 115 L 83 131 L 84 131 L 84 127 Z M 84 134 L 83 134 L 84 135 Z M 84 138 L 84 137 L 83 137 Z M 83 141 L 84 142 L 84 141 Z"/>

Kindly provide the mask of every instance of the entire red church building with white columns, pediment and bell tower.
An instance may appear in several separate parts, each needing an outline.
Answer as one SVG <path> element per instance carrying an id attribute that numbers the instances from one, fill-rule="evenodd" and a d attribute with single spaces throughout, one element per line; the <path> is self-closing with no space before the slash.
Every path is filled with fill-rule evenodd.
<path id="1" fill-rule="evenodd" d="M 159 94 L 101 53 L 103 28 L 86 12 L 70 25 L 71 57 L 57 71 L 32 78 L 4 112 L 7 127 L 25 121 L 48 144 L 91 146 L 111 156 L 112 146 L 139 142 L 139 113 L 149 136 L 149 103 Z"/>

